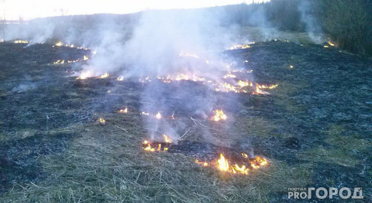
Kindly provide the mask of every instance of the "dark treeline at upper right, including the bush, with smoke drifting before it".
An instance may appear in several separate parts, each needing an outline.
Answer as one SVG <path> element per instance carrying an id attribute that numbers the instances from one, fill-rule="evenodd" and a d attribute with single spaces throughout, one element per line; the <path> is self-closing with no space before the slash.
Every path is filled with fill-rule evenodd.
<path id="1" fill-rule="evenodd" d="M 343 49 L 372 56 L 372 0 L 271 0 L 224 9 L 228 24 L 323 32 Z"/>

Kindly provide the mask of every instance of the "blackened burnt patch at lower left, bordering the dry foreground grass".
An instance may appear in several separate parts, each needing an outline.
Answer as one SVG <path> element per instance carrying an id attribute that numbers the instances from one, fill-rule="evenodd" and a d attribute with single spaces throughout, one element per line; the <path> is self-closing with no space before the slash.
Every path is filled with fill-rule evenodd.
<path id="1" fill-rule="evenodd" d="M 38 157 L 62 153 L 74 137 L 73 133 L 34 134 L 22 140 L 0 143 L 0 194 L 14 183 L 34 183 L 45 178 L 47 174 L 40 168 Z"/>

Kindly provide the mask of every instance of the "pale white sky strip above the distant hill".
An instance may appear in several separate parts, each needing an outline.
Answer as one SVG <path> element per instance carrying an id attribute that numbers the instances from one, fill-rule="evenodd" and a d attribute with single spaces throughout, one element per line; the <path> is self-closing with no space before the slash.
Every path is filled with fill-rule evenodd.
<path id="1" fill-rule="evenodd" d="M 259 0 L 257 2 L 268 2 Z M 149 9 L 189 9 L 230 4 L 251 4 L 253 0 L 0 0 L 0 20 L 31 20 L 39 17 L 96 13 L 125 14 Z"/>

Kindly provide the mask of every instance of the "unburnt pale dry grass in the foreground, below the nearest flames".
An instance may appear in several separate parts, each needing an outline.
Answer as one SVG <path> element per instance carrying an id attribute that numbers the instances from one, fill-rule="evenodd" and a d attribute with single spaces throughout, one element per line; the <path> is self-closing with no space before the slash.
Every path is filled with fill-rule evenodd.
<path id="1" fill-rule="evenodd" d="M 100 115 L 102 116 L 102 115 Z M 14 185 L 4 202 L 269 202 L 273 191 L 311 181 L 309 165 L 270 165 L 248 176 L 202 167 L 190 157 L 140 148 L 141 117 L 104 115 L 107 124 L 74 125 L 79 131 L 60 156 L 40 156 L 49 174 L 40 183 Z M 125 130 L 124 130 L 125 129 Z M 58 130 L 51 132 L 55 133 Z"/>

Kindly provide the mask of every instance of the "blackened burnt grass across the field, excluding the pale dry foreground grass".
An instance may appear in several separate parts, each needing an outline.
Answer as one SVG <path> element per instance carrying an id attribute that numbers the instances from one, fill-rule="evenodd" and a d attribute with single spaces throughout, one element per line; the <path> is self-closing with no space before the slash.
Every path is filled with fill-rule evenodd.
<path id="1" fill-rule="evenodd" d="M 51 44 L 26 47 L 0 43 L 0 199 L 16 184 L 38 184 L 50 176 L 39 157 L 60 156 L 82 136 L 82 131 L 61 129 L 71 125 L 84 128 L 96 122 L 98 115 L 114 116 L 123 107 L 139 115 L 147 110 L 141 101 L 150 104 L 146 106 L 149 111 L 151 106 L 167 106 L 158 111 L 165 116 L 175 113 L 178 118 L 201 120 L 193 109 L 209 110 L 203 100 L 210 97 L 216 107 L 223 107 L 234 118 L 231 128 L 243 135 L 230 149 L 252 150 L 289 167 L 311 164 L 311 182 L 292 187 L 363 187 L 364 199 L 360 201 L 372 200 L 370 59 L 336 47 L 261 42 L 224 54 L 253 70 L 257 83 L 278 84 L 268 90 L 270 95 L 211 93 L 200 83 L 154 81 L 159 84 L 153 87 L 164 85 L 158 94 L 150 84 L 136 81 L 76 80 L 69 71 L 79 69 L 84 61 L 52 64 L 89 54 L 89 50 Z M 245 60 L 248 62 L 243 63 Z M 177 91 L 185 94 L 180 96 Z M 260 128 L 247 131 L 246 120 L 253 120 Z M 141 123 L 138 126 L 141 128 Z M 169 152 L 197 157 L 204 151 L 210 153 L 209 148 L 216 147 L 196 139 L 181 141 Z M 271 202 L 302 202 L 288 200 L 286 194 L 286 190 L 271 191 L 267 198 Z"/>

